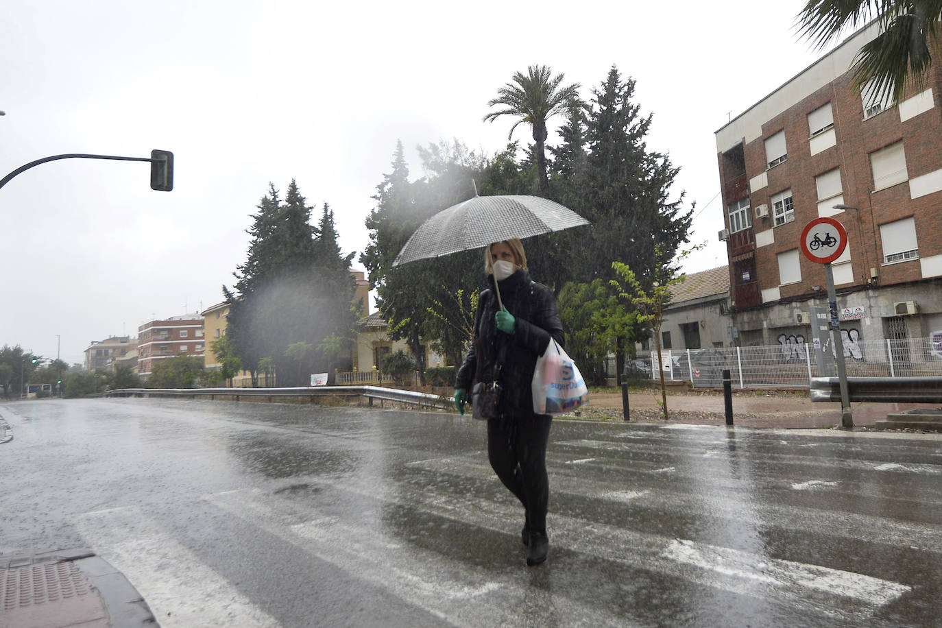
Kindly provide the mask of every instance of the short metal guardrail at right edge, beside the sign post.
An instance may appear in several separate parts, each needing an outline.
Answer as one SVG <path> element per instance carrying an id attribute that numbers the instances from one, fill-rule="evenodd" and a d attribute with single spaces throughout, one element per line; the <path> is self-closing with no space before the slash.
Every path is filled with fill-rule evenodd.
<path id="1" fill-rule="evenodd" d="M 850 401 L 942 403 L 942 378 L 847 378 Z M 811 378 L 812 401 L 840 402 L 840 378 Z"/>

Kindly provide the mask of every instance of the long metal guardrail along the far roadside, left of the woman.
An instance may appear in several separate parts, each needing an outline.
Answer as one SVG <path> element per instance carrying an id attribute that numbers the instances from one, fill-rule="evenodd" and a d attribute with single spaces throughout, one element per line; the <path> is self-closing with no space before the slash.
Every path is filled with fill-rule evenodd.
<path id="1" fill-rule="evenodd" d="M 370 405 L 373 399 L 393 401 L 396 403 L 415 404 L 419 408 L 447 409 L 452 406 L 451 400 L 439 395 L 402 391 L 397 388 L 381 388 L 379 386 L 307 386 L 299 388 L 122 388 L 107 391 L 105 396 L 171 396 L 171 397 L 206 397 L 215 399 L 218 396 L 235 397 L 314 397 L 318 396 L 365 396 Z"/>

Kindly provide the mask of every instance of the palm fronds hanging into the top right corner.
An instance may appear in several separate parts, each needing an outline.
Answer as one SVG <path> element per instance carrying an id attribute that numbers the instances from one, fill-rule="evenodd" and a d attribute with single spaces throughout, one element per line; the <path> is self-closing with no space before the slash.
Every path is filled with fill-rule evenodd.
<path id="1" fill-rule="evenodd" d="M 892 94 L 899 103 L 907 79 L 924 87 L 929 78 L 940 15 L 942 0 L 808 0 L 797 21 L 801 35 L 823 48 L 846 28 L 875 20 L 880 35 L 857 53 L 853 77 L 859 88 L 869 84 L 871 100 Z"/>

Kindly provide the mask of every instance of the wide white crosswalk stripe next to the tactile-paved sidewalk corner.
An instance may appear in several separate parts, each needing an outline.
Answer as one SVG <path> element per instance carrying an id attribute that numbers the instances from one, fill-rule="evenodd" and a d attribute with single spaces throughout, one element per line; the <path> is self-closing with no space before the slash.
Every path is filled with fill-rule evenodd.
<path id="1" fill-rule="evenodd" d="M 76 524 L 95 553 L 138 589 L 163 628 L 280 625 L 137 507 L 87 512 Z"/>

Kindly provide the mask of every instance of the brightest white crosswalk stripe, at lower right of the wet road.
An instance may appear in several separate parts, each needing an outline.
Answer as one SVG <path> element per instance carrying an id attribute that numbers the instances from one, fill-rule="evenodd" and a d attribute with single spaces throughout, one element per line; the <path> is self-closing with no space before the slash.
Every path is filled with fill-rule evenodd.
<path id="1" fill-rule="evenodd" d="M 842 572 L 791 560 L 762 558 L 691 540 L 674 539 L 664 550 L 663 556 L 723 575 L 753 579 L 772 587 L 815 588 L 871 606 L 889 604 L 912 590 L 912 587 L 906 585 L 860 573 Z"/>

